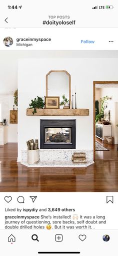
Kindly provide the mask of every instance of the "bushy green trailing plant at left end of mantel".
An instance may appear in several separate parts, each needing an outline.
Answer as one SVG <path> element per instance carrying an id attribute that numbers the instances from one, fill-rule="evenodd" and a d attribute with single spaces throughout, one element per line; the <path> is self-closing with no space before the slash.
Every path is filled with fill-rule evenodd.
<path id="1" fill-rule="evenodd" d="M 32 108 L 32 114 L 36 113 L 36 109 L 42 109 L 44 107 L 44 101 L 41 97 L 34 98 L 34 100 L 31 100 L 31 103 L 29 104 L 29 108 Z"/>

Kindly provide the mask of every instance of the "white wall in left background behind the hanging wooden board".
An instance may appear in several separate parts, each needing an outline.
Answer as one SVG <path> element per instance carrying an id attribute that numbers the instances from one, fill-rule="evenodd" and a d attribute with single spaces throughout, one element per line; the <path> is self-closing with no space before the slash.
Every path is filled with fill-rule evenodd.
<path id="1" fill-rule="evenodd" d="M 1 104 L 1 116 L 6 118 L 6 123 L 8 125 L 8 142 L 17 142 L 17 124 L 9 123 L 9 111 L 13 109 L 13 96 L 0 95 Z"/>

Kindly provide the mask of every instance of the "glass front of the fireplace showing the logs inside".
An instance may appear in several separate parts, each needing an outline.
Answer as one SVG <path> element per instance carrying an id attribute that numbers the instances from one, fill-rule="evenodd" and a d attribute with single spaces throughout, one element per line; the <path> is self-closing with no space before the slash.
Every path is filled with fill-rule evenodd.
<path id="1" fill-rule="evenodd" d="M 71 128 L 45 128 L 45 143 L 71 143 Z"/>

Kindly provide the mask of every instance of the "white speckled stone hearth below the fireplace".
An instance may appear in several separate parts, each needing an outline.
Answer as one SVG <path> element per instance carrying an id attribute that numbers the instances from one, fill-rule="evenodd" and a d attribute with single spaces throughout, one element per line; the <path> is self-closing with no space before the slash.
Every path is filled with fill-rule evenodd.
<path id="1" fill-rule="evenodd" d="M 85 152 L 86 163 L 73 163 L 71 156 L 74 152 Z M 28 164 L 27 150 L 22 150 L 21 164 L 27 167 L 87 167 L 93 163 L 93 150 L 39 149 L 39 163 L 37 164 Z"/>

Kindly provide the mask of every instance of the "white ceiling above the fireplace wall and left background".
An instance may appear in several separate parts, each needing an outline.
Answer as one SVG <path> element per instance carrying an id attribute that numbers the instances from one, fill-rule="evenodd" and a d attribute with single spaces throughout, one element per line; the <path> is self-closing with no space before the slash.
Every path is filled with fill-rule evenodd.
<path id="1" fill-rule="evenodd" d="M 0 51 L 0 95 L 16 90 L 20 58 L 118 58 L 118 51 Z"/>

